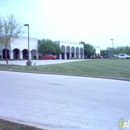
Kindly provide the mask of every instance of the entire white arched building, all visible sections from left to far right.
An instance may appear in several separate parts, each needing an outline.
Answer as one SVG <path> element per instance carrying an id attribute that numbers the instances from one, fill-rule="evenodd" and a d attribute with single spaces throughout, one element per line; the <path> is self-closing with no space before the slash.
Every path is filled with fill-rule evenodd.
<path id="1" fill-rule="evenodd" d="M 38 39 L 29 38 L 29 57 L 30 59 L 38 59 Z M 56 44 L 62 49 L 62 54 L 58 56 L 58 59 L 84 59 L 84 46 L 83 44 L 55 41 Z M 100 54 L 100 47 L 95 47 L 96 53 Z M 0 44 L 0 55 L 5 58 L 6 49 L 5 46 Z M 16 39 L 14 43 L 11 43 L 7 49 L 7 57 L 9 59 L 27 59 L 28 58 L 28 38 L 20 37 Z"/>

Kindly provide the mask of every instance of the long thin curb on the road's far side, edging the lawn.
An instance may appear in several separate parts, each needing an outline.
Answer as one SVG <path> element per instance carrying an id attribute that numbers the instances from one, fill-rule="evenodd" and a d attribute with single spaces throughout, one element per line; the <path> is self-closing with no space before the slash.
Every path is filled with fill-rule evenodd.
<path id="1" fill-rule="evenodd" d="M 12 71 L 12 70 L 1 70 L 0 71 L 8 71 L 8 72 L 20 72 L 20 73 L 33 73 L 33 74 L 50 74 L 50 75 L 63 75 L 63 76 L 77 76 L 77 77 L 88 77 L 88 78 L 99 78 L 99 79 L 111 79 L 111 80 L 122 80 L 122 81 L 130 81 L 130 79 L 118 78 L 118 77 L 105 77 L 105 76 L 91 76 L 91 75 L 78 75 L 78 74 L 63 74 L 63 73 L 40 73 L 33 71 Z"/>

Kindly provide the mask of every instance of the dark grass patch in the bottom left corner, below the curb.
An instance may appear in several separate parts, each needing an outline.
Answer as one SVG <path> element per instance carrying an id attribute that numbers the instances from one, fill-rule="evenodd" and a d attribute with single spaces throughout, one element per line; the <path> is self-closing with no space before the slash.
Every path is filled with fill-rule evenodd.
<path id="1" fill-rule="evenodd" d="M 0 130 L 43 130 L 0 119 Z"/>

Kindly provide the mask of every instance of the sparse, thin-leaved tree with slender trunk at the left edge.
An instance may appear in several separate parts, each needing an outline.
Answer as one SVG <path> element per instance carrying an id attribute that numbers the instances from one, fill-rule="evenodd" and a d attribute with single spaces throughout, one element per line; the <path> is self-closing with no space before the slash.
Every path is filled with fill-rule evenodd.
<path id="1" fill-rule="evenodd" d="M 5 46 L 5 59 L 8 64 L 7 47 L 22 33 L 22 26 L 17 23 L 13 15 L 0 18 L 0 44 Z"/>

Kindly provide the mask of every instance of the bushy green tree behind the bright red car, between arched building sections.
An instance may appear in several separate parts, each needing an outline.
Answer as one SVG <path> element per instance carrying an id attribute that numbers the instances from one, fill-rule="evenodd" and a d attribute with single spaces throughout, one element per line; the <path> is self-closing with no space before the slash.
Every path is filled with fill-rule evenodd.
<path id="1" fill-rule="evenodd" d="M 42 55 L 62 53 L 60 46 L 49 39 L 38 40 L 38 51 Z"/>

